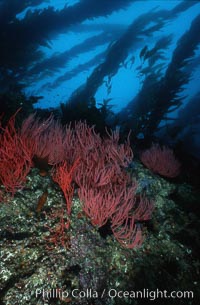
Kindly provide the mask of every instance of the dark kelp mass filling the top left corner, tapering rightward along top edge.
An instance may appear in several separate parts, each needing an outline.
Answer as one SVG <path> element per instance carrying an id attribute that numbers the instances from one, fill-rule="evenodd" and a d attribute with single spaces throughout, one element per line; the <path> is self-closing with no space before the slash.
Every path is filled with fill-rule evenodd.
<path id="1" fill-rule="evenodd" d="M 1 33 L 0 41 L 0 75 L 13 80 L 21 80 L 27 67 L 42 58 L 38 47 L 49 46 L 49 39 L 58 32 L 65 32 L 71 25 L 86 19 L 110 14 L 125 8 L 133 1 L 101 1 L 83 0 L 74 6 L 65 6 L 61 10 L 53 7 L 28 10 L 22 19 L 16 14 L 22 13 L 29 6 L 43 1 L 2 1 L 1 2 Z M 7 13 L 9 12 L 9 13 Z M 13 48 L 15 51 L 13 52 Z M 1 85 L 2 86 L 2 85 Z"/>

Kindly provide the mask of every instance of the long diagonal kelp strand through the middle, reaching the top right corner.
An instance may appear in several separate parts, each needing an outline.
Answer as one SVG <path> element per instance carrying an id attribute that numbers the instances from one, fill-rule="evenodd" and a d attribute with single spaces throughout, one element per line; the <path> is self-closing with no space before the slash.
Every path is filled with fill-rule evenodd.
<path id="1" fill-rule="evenodd" d="M 87 78 L 85 85 L 78 88 L 78 90 L 72 94 L 68 103 L 71 103 L 72 105 L 85 103 L 85 105 L 87 105 L 87 101 L 95 95 L 97 89 L 103 83 L 104 78 L 106 76 L 112 77 L 117 73 L 120 64 L 125 62 L 131 49 L 137 48 L 136 46 L 141 40 L 153 35 L 155 31 L 159 31 L 168 20 L 175 18 L 178 13 L 192 5 L 194 5 L 194 3 L 183 2 L 171 11 L 152 10 L 151 12 L 139 16 L 132 22 L 127 31 L 117 41 L 113 42 L 107 51 L 104 62 L 94 69 L 92 74 Z"/>

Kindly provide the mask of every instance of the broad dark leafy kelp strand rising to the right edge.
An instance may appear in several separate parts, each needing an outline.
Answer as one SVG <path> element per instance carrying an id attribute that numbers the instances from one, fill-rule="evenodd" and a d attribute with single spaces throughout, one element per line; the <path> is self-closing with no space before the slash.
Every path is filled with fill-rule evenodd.
<path id="1" fill-rule="evenodd" d="M 122 121 L 127 113 L 131 113 L 129 124 L 136 135 L 152 136 L 160 122 L 167 119 L 167 114 L 181 106 L 183 97 L 180 92 L 189 82 L 192 72 L 186 67 L 191 64 L 200 43 L 199 27 L 200 15 L 178 41 L 165 75 L 160 80 L 155 71 L 147 75 L 139 94 L 121 112 Z"/>

